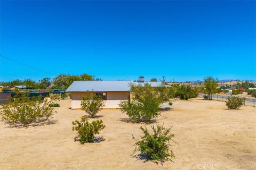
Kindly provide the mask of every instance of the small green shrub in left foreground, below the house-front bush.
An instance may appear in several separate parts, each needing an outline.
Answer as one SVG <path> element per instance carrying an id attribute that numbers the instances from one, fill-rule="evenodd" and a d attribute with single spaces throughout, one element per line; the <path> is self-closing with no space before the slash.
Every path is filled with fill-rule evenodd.
<path id="1" fill-rule="evenodd" d="M 75 140 L 79 140 L 81 144 L 85 142 L 92 142 L 94 140 L 94 135 L 99 134 L 99 132 L 106 126 L 103 124 L 102 120 L 95 120 L 92 123 L 87 121 L 87 118 L 82 117 L 81 121 L 73 121 L 73 131 L 76 130 L 78 135 Z"/>

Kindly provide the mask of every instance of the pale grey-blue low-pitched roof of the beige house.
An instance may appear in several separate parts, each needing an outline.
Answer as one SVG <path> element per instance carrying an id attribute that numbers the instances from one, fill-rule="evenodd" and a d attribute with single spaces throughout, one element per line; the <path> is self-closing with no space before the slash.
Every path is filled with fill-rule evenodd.
<path id="1" fill-rule="evenodd" d="M 74 81 L 66 92 L 84 92 L 84 91 L 130 91 L 130 84 L 149 83 L 152 87 L 161 86 L 161 82 L 133 82 L 133 81 Z"/>

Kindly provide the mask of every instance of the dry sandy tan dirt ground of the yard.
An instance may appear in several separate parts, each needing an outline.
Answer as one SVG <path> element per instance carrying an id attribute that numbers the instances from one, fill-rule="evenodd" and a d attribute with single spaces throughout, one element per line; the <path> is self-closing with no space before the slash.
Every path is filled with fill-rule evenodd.
<path id="1" fill-rule="evenodd" d="M 1 123 L 0 169 L 256 169 L 256 108 L 226 109 L 220 101 L 177 100 L 157 122 L 175 134 L 176 159 L 163 165 L 131 156 L 139 127 L 117 109 L 99 113 L 106 128 L 99 143 L 79 144 L 71 122 L 85 113 L 60 101 L 49 124 L 9 128 Z M 156 124 L 156 123 L 154 123 Z M 149 126 L 149 125 L 146 125 Z"/>

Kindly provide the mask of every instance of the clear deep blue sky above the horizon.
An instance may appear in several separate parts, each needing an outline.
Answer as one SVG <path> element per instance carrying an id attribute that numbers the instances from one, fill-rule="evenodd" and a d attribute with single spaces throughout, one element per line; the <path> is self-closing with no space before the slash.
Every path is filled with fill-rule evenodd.
<path id="1" fill-rule="evenodd" d="M 255 1 L 0 3 L 0 54 L 47 72 L 0 57 L 0 81 L 60 73 L 256 80 Z"/>

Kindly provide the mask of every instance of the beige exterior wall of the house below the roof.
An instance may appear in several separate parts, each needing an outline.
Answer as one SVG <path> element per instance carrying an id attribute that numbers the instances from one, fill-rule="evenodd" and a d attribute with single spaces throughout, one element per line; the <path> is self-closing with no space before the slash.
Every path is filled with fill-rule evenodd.
<path id="1" fill-rule="evenodd" d="M 81 98 L 93 95 L 92 92 L 71 92 L 71 109 L 81 108 Z M 129 92 L 107 92 L 104 108 L 118 108 L 121 100 L 129 99 Z"/>

